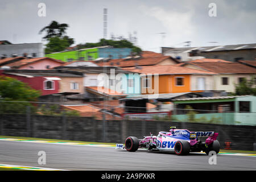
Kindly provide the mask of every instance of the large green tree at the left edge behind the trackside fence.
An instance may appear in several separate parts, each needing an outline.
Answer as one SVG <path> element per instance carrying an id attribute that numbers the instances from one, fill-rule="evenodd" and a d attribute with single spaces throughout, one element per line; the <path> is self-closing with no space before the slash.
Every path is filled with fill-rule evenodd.
<path id="1" fill-rule="evenodd" d="M 0 76 L 1 113 L 25 113 L 26 106 L 31 106 L 33 112 L 35 108 L 30 102 L 36 101 L 39 96 L 40 92 L 32 89 L 26 83 L 15 78 Z"/>

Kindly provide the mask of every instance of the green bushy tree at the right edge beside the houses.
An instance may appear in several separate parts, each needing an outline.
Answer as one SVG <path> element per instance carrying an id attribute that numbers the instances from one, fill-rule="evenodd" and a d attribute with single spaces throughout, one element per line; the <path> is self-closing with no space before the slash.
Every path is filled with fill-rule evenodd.
<path id="1" fill-rule="evenodd" d="M 250 80 L 244 79 L 240 84 L 235 84 L 236 91 L 232 93 L 235 96 L 253 95 L 256 96 L 256 77 L 253 76 Z"/>

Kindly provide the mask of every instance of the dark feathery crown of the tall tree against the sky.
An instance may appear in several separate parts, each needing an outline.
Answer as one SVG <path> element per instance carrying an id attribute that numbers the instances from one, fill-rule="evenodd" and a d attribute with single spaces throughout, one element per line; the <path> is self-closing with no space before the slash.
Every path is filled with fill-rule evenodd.
<path id="1" fill-rule="evenodd" d="M 67 23 L 61 23 L 59 24 L 56 21 L 52 21 L 48 26 L 42 28 L 42 30 L 39 31 L 39 34 L 42 34 L 43 31 L 47 32 L 47 35 L 43 37 L 43 39 L 49 39 L 53 36 L 59 36 L 66 34 L 66 29 L 68 28 Z"/>

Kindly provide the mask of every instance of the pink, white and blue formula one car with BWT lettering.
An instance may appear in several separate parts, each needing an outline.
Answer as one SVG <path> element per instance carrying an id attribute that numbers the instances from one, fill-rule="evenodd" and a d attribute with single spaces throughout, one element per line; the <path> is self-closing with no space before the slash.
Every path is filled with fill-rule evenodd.
<path id="1" fill-rule="evenodd" d="M 216 140 L 218 133 L 213 131 L 191 132 L 186 129 L 176 129 L 171 127 L 170 131 L 160 131 L 158 136 L 128 137 L 125 140 L 127 151 L 135 152 L 138 148 L 147 148 L 148 150 L 171 151 L 177 155 L 188 155 L 189 152 L 204 151 L 207 155 L 210 151 L 216 154 L 220 151 L 220 143 Z M 200 140 L 201 137 L 208 137 L 205 142 Z"/>

